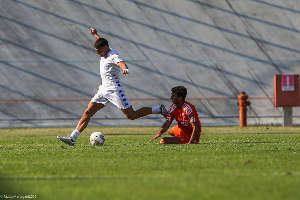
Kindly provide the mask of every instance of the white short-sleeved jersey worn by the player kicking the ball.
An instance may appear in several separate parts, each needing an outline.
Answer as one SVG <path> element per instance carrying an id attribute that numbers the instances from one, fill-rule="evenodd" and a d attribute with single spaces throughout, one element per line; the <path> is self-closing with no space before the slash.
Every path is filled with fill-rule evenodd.
<path id="1" fill-rule="evenodd" d="M 118 90 L 123 87 L 123 84 L 119 78 L 120 67 L 118 62 L 122 62 L 123 59 L 120 57 L 119 53 L 109 47 L 111 50 L 100 60 L 100 75 L 102 83 L 99 89 L 104 91 L 107 90 Z"/>

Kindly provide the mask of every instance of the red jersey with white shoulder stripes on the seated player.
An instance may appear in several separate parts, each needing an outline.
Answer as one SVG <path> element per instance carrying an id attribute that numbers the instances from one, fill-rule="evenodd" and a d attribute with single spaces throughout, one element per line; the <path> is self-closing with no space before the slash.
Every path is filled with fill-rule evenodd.
<path id="1" fill-rule="evenodd" d="M 201 123 L 196 108 L 193 104 L 184 101 L 181 109 L 178 109 L 175 104 L 172 104 L 168 111 L 167 120 L 172 122 L 174 118 L 178 123 L 178 127 L 188 137 L 190 137 L 193 133 L 193 127 L 191 123 L 197 121 L 199 126 L 198 136 L 200 136 Z"/>

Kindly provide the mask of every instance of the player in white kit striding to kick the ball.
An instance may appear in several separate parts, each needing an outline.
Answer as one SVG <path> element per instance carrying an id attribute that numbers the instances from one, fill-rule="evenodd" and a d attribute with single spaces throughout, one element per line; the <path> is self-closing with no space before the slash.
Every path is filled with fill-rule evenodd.
<path id="1" fill-rule="evenodd" d="M 87 127 L 90 118 L 109 102 L 121 109 L 126 117 L 131 120 L 159 113 L 167 118 L 168 113 L 162 103 L 155 107 L 143 107 L 138 110 L 132 108 L 119 77 L 120 67 L 123 74 L 129 74 L 127 65 L 119 53 L 108 45 L 108 41 L 97 34 L 96 29 L 90 28 L 90 32 L 97 38 L 94 47 L 97 54 L 101 56 L 100 75 L 102 84 L 99 86 L 98 92 L 91 99 L 88 108 L 83 113 L 82 118 L 79 120 L 76 129 L 73 130 L 70 137 L 57 136 L 61 142 L 69 146 L 74 146 L 80 133 Z"/>

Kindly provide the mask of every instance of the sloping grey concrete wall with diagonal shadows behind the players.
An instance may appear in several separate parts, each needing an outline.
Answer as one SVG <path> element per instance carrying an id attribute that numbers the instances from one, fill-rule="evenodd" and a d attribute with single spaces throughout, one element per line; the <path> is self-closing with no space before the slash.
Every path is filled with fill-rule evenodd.
<path id="1" fill-rule="evenodd" d="M 300 73 L 299 18 L 297 0 L 1 0 L 0 127 L 76 126 L 101 83 L 91 27 L 128 64 L 134 109 L 168 107 L 184 85 L 202 124 L 234 125 L 246 91 L 263 97 L 250 100 L 250 124 L 280 124 L 273 76 Z M 130 121 L 109 104 L 90 125 L 163 122 Z"/>

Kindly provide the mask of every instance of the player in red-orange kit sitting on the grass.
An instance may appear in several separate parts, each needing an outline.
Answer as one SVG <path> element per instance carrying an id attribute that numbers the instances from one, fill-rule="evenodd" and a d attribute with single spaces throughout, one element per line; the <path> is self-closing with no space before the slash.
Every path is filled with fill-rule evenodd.
<path id="1" fill-rule="evenodd" d="M 187 96 L 187 88 L 177 86 L 172 88 L 171 91 L 173 104 L 169 108 L 167 121 L 150 142 L 159 138 L 168 130 L 168 133 L 173 137 L 164 137 L 159 144 L 198 144 L 201 123 L 195 106 L 184 100 Z M 174 118 L 178 125 L 169 129 Z"/>

